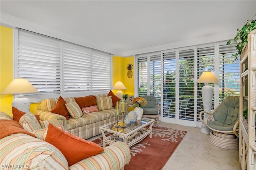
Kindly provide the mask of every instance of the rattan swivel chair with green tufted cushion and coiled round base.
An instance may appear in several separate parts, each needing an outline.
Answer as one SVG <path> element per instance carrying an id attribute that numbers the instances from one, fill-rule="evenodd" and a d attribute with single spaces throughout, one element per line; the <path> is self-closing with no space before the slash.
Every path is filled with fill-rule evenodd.
<path id="1" fill-rule="evenodd" d="M 243 110 L 247 108 L 247 100 L 243 101 Z M 209 114 L 206 121 L 202 113 Z M 239 132 L 239 96 L 226 97 L 213 111 L 200 112 L 200 121 L 212 130 L 207 141 L 224 149 L 238 150 Z"/>

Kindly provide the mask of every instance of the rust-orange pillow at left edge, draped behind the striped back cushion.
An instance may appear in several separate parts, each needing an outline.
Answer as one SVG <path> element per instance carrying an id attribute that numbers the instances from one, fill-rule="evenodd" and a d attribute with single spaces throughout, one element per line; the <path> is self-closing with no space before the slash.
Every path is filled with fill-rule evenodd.
<path id="1" fill-rule="evenodd" d="M 0 139 L 12 134 L 24 133 L 36 137 L 33 133 L 22 129 L 21 125 L 14 120 L 0 120 Z"/>

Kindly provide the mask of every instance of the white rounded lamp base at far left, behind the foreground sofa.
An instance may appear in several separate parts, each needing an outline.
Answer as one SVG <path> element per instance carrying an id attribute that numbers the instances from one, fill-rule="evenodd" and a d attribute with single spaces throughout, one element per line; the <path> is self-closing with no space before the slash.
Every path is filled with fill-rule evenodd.
<path id="1" fill-rule="evenodd" d="M 24 111 L 24 112 L 28 113 L 30 102 L 29 102 L 29 99 L 26 98 L 26 96 L 19 95 L 19 96 L 17 96 L 17 98 L 12 100 L 12 106 L 16 107 L 20 111 Z"/>

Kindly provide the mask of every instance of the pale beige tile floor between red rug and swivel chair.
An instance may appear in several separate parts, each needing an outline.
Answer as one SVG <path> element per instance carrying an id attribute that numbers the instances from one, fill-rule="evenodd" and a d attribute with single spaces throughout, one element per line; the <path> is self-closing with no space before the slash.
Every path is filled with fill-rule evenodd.
<path id="1" fill-rule="evenodd" d="M 162 170 L 241 170 L 238 150 L 211 145 L 206 141 L 208 135 L 200 133 L 200 128 L 161 121 L 159 124 L 162 127 L 188 132 Z M 98 137 L 101 135 L 88 140 L 93 141 Z"/>

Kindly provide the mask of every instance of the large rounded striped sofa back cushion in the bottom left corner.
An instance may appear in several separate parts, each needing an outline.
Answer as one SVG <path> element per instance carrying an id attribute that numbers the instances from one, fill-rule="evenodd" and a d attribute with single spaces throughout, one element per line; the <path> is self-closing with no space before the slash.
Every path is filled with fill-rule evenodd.
<path id="1" fill-rule="evenodd" d="M 14 134 L 1 139 L 0 145 L 1 167 L 9 165 L 6 169 L 68 170 L 68 162 L 60 150 L 35 137 Z"/>

